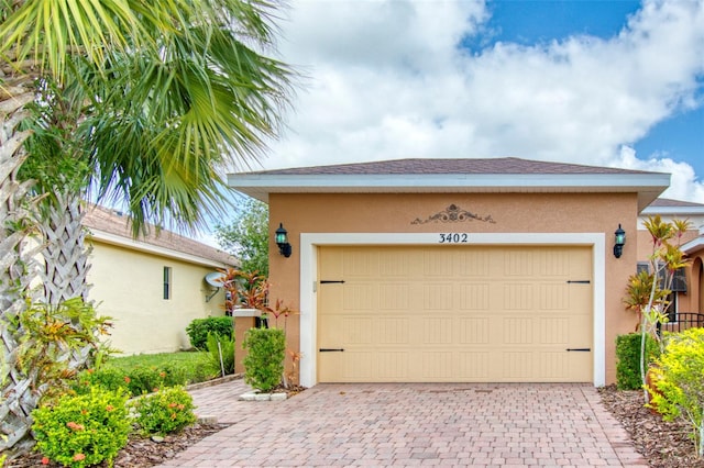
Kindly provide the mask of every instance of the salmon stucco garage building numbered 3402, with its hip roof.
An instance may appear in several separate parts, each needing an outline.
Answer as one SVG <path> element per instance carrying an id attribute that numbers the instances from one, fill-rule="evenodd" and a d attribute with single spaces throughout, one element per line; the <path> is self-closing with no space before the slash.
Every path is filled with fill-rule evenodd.
<path id="1" fill-rule="evenodd" d="M 292 255 L 270 248 L 271 291 L 299 311 L 288 343 L 301 385 L 602 386 L 616 380 L 616 336 L 634 330 L 623 297 L 638 215 L 670 175 L 402 159 L 233 174 L 229 185 L 268 203 L 272 236 L 287 230 Z"/>

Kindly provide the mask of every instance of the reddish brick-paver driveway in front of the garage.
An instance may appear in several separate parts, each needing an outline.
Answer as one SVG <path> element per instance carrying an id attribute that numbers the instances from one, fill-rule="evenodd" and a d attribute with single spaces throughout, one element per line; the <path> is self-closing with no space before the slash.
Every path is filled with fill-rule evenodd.
<path id="1" fill-rule="evenodd" d="M 318 385 L 238 401 L 241 380 L 195 390 L 232 425 L 164 467 L 647 467 L 588 385 Z"/>

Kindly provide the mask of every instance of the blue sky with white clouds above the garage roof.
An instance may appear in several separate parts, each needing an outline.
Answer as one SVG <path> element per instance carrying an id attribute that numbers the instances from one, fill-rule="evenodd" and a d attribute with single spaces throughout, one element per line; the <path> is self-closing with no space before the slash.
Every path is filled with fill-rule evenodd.
<path id="1" fill-rule="evenodd" d="M 704 0 L 292 0 L 305 78 L 262 169 L 519 157 L 704 203 Z"/>

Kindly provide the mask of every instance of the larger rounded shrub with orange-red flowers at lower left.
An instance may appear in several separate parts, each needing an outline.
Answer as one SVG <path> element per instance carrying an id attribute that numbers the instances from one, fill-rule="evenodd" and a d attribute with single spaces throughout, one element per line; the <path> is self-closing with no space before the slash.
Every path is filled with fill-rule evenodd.
<path id="1" fill-rule="evenodd" d="M 86 467 L 103 460 L 111 466 L 131 430 L 125 403 L 124 392 L 94 388 L 34 410 L 32 430 L 38 450 L 63 466 Z"/>

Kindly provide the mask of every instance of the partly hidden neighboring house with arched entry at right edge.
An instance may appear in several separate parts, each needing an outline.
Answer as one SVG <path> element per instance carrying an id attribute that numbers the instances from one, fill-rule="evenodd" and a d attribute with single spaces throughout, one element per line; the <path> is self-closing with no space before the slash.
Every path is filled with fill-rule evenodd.
<path id="1" fill-rule="evenodd" d="M 704 204 L 680 200 L 657 199 L 642 211 L 638 230 L 639 267 L 646 268 L 652 252 L 650 234 L 642 227 L 642 221 L 651 215 L 660 215 L 663 221 L 688 220 L 692 229 L 682 237 L 682 252 L 691 264 L 678 271 L 672 285 L 670 324 L 666 330 L 682 330 L 692 325 L 704 326 Z"/>

